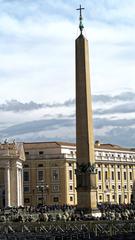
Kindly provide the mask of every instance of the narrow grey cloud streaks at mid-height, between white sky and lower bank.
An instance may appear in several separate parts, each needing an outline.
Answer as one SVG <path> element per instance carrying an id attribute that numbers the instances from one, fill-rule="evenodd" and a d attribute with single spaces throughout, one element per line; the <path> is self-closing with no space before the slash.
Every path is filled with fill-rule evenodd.
<path id="1" fill-rule="evenodd" d="M 128 113 L 134 112 L 134 101 L 135 93 L 134 92 L 122 92 L 117 95 L 105 95 L 105 94 L 94 94 L 93 102 L 94 103 L 119 103 L 127 102 L 124 104 L 119 104 L 115 107 L 109 109 L 96 109 L 95 114 L 107 114 L 107 113 Z M 132 102 L 132 104 L 131 104 Z M 5 103 L 0 104 L 1 111 L 32 111 L 41 108 L 58 108 L 58 107 L 74 107 L 75 99 L 68 99 L 64 102 L 53 102 L 53 103 L 36 103 L 34 101 L 30 102 L 20 102 L 16 99 L 6 100 Z M 101 106 L 101 105 L 100 105 Z"/>

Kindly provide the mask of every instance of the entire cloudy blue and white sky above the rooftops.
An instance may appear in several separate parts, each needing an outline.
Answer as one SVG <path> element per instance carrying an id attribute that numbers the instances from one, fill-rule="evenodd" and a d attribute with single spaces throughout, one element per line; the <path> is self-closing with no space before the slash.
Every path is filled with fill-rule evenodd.
<path id="1" fill-rule="evenodd" d="M 135 147 L 134 0 L 0 0 L 1 142 L 75 142 L 80 4 L 95 140 Z"/>

